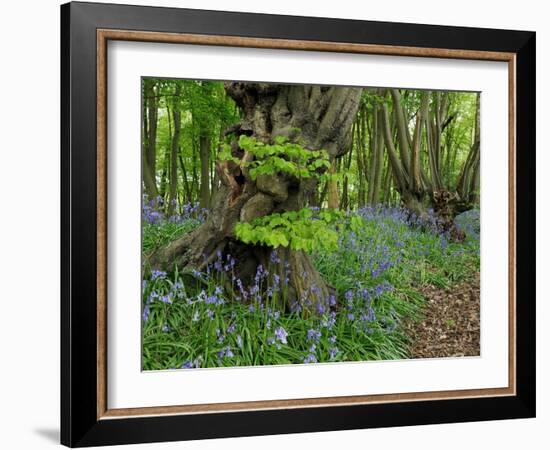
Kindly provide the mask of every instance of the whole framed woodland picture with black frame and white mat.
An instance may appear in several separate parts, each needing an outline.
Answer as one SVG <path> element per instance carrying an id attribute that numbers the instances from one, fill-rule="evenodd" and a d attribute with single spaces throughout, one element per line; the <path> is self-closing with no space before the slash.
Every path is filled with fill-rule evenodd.
<path id="1" fill-rule="evenodd" d="M 61 442 L 535 415 L 535 33 L 61 7 Z"/>

